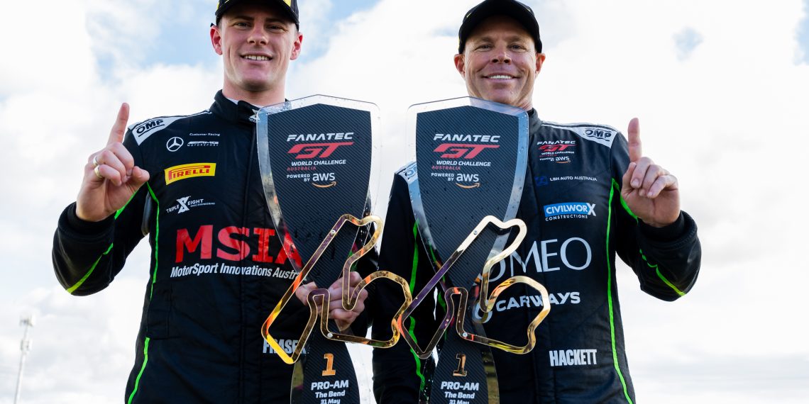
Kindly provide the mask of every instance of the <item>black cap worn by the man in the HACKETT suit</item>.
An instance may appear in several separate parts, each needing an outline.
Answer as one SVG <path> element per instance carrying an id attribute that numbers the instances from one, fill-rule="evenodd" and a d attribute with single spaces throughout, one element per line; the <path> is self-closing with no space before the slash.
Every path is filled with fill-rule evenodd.
<path id="1" fill-rule="evenodd" d="M 464 53 L 466 40 L 469 39 L 469 34 L 472 33 L 472 30 L 484 19 L 488 19 L 493 15 L 507 15 L 512 19 L 516 19 L 531 34 L 536 45 L 536 52 L 542 52 L 540 24 L 536 22 L 536 17 L 531 7 L 516 0 L 485 0 L 472 7 L 464 15 L 464 22 L 460 24 L 460 30 L 458 30 L 458 53 Z"/>

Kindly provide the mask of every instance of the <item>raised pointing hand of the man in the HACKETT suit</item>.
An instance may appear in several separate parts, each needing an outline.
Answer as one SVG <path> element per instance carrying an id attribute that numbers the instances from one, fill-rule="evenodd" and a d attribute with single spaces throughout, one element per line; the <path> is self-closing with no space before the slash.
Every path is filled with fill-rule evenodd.
<path id="1" fill-rule="evenodd" d="M 680 191 L 674 175 L 650 158 L 643 157 L 637 118 L 629 121 L 629 168 L 621 196 L 637 218 L 647 225 L 663 227 L 680 217 Z"/>

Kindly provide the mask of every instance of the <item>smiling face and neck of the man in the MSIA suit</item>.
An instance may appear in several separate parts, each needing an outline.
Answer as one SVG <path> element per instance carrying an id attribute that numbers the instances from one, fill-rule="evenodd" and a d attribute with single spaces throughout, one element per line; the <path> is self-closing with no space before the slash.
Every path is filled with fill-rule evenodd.
<path id="1" fill-rule="evenodd" d="M 274 6 L 250 2 L 233 6 L 210 29 L 214 51 L 222 55 L 222 93 L 265 106 L 284 100 L 286 70 L 300 54 L 303 36 Z"/>

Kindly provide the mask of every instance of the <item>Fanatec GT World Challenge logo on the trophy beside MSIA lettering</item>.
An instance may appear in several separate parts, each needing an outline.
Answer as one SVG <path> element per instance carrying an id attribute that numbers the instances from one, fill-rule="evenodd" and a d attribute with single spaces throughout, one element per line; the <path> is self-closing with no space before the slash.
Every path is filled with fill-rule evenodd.
<path id="1" fill-rule="evenodd" d="M 334 171 L 321 172 L 318 169 L 324 167 L 328 170 L 328 166 L 341 166 L 346 163 L 345 158 L 334 158 L 332 154 L 343 146 L 354 145 L 354 132 L 290 134 L 287 135 L 286 141 L 292 144 L 286 153 L 294 154 L 290 166 L 286 167 L 286 178 L 299 179 L 319 188 L 328 188 L 337 185 Z"/>

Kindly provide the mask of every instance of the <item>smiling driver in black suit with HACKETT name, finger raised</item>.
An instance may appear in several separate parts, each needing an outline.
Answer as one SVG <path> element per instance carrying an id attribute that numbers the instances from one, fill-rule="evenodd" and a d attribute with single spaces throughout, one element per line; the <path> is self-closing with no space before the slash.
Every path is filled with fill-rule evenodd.
<path id="1" fill-rule="evenodd" d="M 608 126 L 540 120 L 532 91 L 544 61 L 541 52 L 529 7 L 487 0 L 464 17 L 455 55 L 469 95 L 529 113 L 530 151 L 517 213 L 528 233 L 515 253 L 492 268 L 489 291 L 511 276 L 530 276 L 548 288 L 553 309 L 537 328 L 530 353 L 492 349 L 500 401 L 633 402 L 615 256 L 633 268 L 642 290 L 673 301 L 697 279 L 697 226 L 680 211 L 676 178 L 642 157 L 637 120 L 629 124 L 629 142 Z M 415 296 L 434 268 L 414 224 L 408 183 L 416 170 L 408 168 L 394 179 L 379 267 L 411 280 Z M 380 285 L 379 313 L 395 310 L 400 295 Z M 436 318 L 443 317 L 442 303 L 439 298 L 432 306 L 422 304 L 404 324 L 422 344 L 437 329 Z M 539 292 L 512 287 L 480 321 L 489 338 L 522 345 L 527 324 L 540 309 Z M 375 323 L 374 338 L 384 337 L 383 328 Z M 432 365 L 402 343 L 375 350 L 377 400 L 417 402 Z"/>

